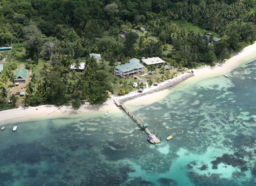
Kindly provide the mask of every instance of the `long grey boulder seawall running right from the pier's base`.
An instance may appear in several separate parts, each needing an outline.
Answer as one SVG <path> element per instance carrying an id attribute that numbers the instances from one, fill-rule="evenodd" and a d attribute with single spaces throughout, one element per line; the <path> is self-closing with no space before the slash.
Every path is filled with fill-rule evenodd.
<path id="1" fill-rule="evenodd" d="M 127 98 L 120 99 L 119 102 L 122 104 L 122 103 L 125 103 L 126 101 L 130 101 L 130 100 L 136 99 L 138 97 L 142 97 L 142 96 L 145 96 L 145 95 L 148 95 L 148 94 L 153 94 L 155 92 L 159 92 L 159 91 L 168 89 L 168 88 L 170 88 L 170 87 L 172 87 L 172 86 L 174 86 L 174 85 L 176 85 L 176 84 L 178 84 L 178 83 L 180 83 L 182 81 L 185 81 L 186 79 L 188 79 L 188 78 L 190 78 L 192 76 L 194 76 L 193 73 L 185 74 L 185 75 L 183 75 L 180 78 L 177 78 L 177 79 L 175 79 L 175 80 L 173 80 L 173 81 L 171 81 L 169 83 L 166 83 L 166 84 L 162 85 L 161 87 L 155 88 L 155 89 L 150 90 L 150 91 L 145 92 L 145 93 L 139 93 L 139 94 L 134 95 L 134 96 L 130 96 L 130 97 L 127 97 Z"/>

